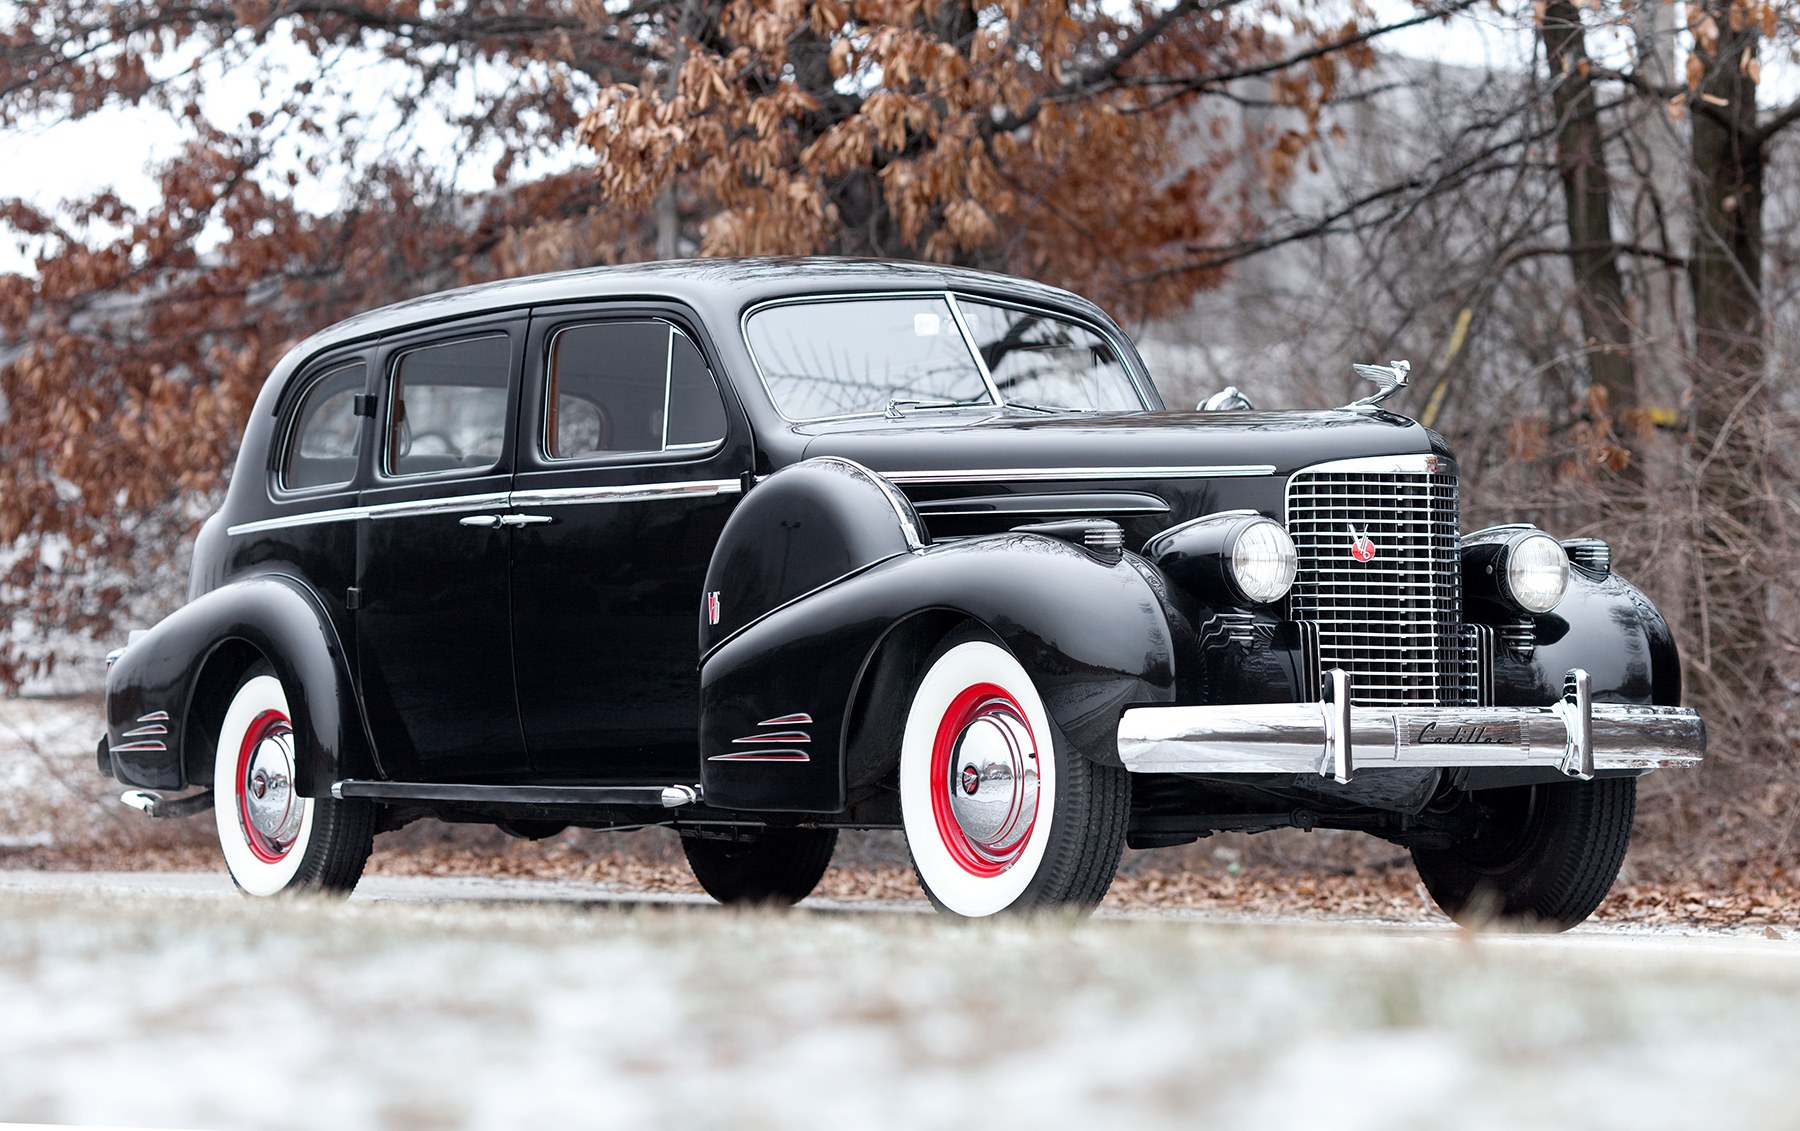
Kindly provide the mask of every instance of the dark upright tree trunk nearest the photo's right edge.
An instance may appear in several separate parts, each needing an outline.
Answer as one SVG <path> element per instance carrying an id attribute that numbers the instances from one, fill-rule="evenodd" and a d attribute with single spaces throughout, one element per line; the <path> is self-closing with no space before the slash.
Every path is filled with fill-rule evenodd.
<path id="1" fill-rule="evenodd" d="M 1690 9 L 1692 13 L 1692 9 Z M 1775 681 L 1766 562 L 1773 517 L 1759 486 L 1766 411 L 1762 176 L 1755 25 L 1732 29 L 1730 2 L 1705 0 L 1717 40 L 1696 34 L 1703 79 L 1694 119 L 1694 461 L 1699 501 L 1694 585 L 1699 656 L 1692 666 L 1741 735 L 1762 726 Z M 1690 14 L 1690 25 L 1701 16 Z M 1724 719 L 1721 719 L 1724 722 Z M 1746 751 L 1733 751 L 1746 753 Z"/>

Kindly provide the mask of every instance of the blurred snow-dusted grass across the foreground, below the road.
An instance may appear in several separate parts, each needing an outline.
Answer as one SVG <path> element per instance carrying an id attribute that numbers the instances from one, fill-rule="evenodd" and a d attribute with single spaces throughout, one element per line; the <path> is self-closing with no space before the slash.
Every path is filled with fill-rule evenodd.
<path id="1" fill-rule="evenodd" d="M 13 884 L 0 1003 L 0 1120 L 247 1131 L 1775 1127 L 1800 1063 L 1800 944 L 1593 929 Z"/>

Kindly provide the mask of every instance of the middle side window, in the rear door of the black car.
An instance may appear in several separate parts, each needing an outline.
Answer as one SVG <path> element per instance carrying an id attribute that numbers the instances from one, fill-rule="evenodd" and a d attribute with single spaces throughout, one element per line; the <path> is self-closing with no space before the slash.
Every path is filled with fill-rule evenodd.
<path id="1" fill-rule="evenodd" d="M 504 333 L 401 353 L 387 407 L 383 470 L 421 475 L 499 463 L 511 360 Z"/>

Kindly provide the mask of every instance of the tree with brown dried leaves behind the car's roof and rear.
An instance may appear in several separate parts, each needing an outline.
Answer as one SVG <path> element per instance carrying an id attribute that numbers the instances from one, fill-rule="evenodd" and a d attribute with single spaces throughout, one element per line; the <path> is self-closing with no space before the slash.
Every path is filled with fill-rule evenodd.
<path id="1" fill-rule="evenodd" d="M 0 128 L 137 106 L 185 142 L 149 204 L 0 200 L 36 254 L 34 276 L 0 276 L 0 600 L 20 611 L 0 686 L 54 663 L 25 641 L 178 598 L 144 578 L 185 551 L 263 375 L 322 324 L 684 240 L 1006 268 L 1170 310 L 1219 274 L 1188 249 L 1251 229 L 1233 178 L 1265 140 L 1195 99 L 1265 74 L 1310 122 L 1368 47 L 1283 52 L 1343 31 L 1312 0 L 20 0 L 0 14 Z M 380 92 L 344 77 L 376 63 Z M 252 104 L 209 97 L 257 74 Z M 419 115 L 454 140 L 409 142 Z M 567 167 L 571 142 L 592 164 Z M 1276 180 L 1300 148 L 1278 144 Z M 464 189 L 464 160 L 500 187 Z M 308 211 L 320 182 L 337 205 Z"/>

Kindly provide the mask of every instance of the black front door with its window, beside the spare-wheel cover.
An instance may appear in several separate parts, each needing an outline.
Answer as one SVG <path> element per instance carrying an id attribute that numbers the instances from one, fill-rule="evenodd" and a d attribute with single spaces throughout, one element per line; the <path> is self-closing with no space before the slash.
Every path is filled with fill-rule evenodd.
<path id="1" fill-rule="evenodd" d="M 536 312 L 513 504 L 513 666 L 540 780 L 695 780 L 700 584 L 752 466 L 677 308 Z"/>

